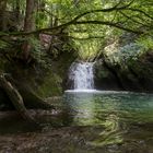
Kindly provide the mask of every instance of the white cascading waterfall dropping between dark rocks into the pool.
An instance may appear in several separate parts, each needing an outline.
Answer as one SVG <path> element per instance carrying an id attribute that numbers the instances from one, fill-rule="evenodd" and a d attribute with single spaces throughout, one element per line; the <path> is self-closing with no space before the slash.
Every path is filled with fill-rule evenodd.
<path id="1" fill-rule="evenodd" d="M 94 74 L 93 62 L 74 62 L 70 67 L 69 79 L 73 82 L 74 90 L 93 90 Z"/>

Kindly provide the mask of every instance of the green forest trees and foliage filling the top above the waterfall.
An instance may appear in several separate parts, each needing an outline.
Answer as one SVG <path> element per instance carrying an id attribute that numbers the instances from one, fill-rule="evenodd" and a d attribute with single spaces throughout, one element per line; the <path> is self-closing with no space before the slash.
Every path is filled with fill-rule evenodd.
<path id="1" fill-rule="evenodd" d="M 25 62 L 40 58 L 43 49 L 56 57 L 73 48 L 93 59 L 126 33 L 145 50 L 153 46 L 152 0 L 1 0 L 0 5 L 1 49 L 15 46 L 9 57 L 20 55 Z"/>

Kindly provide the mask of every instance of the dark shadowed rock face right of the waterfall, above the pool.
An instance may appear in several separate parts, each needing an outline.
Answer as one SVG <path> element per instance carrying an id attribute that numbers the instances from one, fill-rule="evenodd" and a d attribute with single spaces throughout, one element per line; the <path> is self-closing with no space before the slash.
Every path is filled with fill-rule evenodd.
<path id="1" fill-rule="evenodd" d="M 153 92 L 153 51 L 141 55 L 126 64 L 113 63 L 106 57 L 95 64 L 97 90 Z"/>

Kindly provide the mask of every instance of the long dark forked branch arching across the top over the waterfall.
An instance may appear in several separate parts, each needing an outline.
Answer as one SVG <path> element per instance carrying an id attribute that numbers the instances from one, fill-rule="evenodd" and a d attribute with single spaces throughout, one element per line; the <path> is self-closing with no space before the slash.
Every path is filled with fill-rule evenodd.
<path id="1" fill-rule="evenodd" d="M 73 20 L 71 20 L 71 21 L 69 21 L 67 23 L 63 23 L 61 25 L 55 26 L 55 27 L 42 28 L 42 30 L 33 31 L 33 32 L 0 33 L 0 38 L 10 37 L 10 36 L 37 35 L 37 34 L 46 33 L 46 32 L 50 32 L 50 35 L 55 35 L 55 34 L 59 33 L 59 30 L 64 30 L 64 28 L 69 27 L 70 25 L 75 25 L 75 24 L 101 24 L 101 25 L 113 26 L 113 27 L 116 27 L 116 28 L 119 28 L 119 30 L 122 30 L 122 31 L 127 31 L 127 32 L 130 32 L 130 33 L 144 34 L 143 31 L 138 31 L 138 30 L 133 30 L 133 28 L 130 28 L 130 27 L 126 27 L 126 26 L 123 26 L 122 24 L 119 24 L 119 23 L 106 22 L 106 21 L 79 21 L 82 16 L 85 16 L 85 15 L 91 14 L 91 13 L 113 12 L 113 11 L 123 11 L 123 10 L 125 11 L 129 10 L 129 11 L 139 12 L 139 13 L 144 14 L 145 16 L 148 16 L 150 19 L 153 19 L 151 15 L 149 15 L 146 12 L 144 12 L 144 11 L 142 11 L 140 9 L 129 8 L 133 1 L 131 1 L 130 3 L 125 4 L 122 7 L 119 7 L 120 2 L 117 3 L 113 8 L 86 11 L 86 12 L 84 12 L 82 14 L 79 14 Z"/>

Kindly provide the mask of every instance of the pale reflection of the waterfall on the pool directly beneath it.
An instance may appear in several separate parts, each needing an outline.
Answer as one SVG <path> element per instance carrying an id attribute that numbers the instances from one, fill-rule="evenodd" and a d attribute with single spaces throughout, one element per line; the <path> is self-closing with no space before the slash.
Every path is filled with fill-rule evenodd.
<path id="1" fill-rule="evenodd" d="M 67 107 L 70 108 L 69 115 L 73 116 L 72 125 L 96 123 L 94 93 L 67 93 L 64 99 Z"/>

